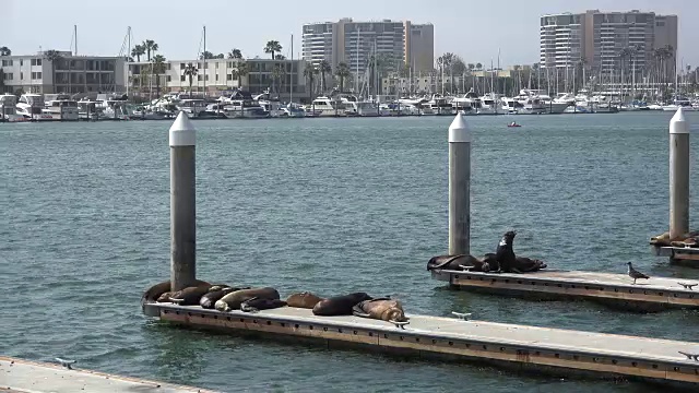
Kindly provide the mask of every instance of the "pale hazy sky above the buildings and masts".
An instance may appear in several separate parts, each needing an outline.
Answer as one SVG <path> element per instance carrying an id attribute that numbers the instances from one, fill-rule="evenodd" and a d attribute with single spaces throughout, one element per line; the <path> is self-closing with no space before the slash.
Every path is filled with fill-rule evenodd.
<path id="1" fill-rule="evenodd" d="M 538 60 L 538 17 L 545 13 L 589 9 L 638 9 L 679 16 L 678 59 L 699 66 L 698 0 L 351 0 L 351 1 L 206 1 L 206 0 L 0 0 L 0 46 L 14 55 L 33 53 L 39 46 L 69 50 L 78 25 L 79 55 L 116 56 L 131 26 L 132 45 L 146 38 L 158 43 L 168 59 L 192 59 L 200 50 L 206 25 L 206 49 L 227 53 L 240 48 L 246 57 L 264 55 L 270 39 L 279 40 L 289 57 L 300 53 L 301 25 L 354 20 L 411 20 L 435 25 L 436 55 L 451 51 L 466 62 L 501 64 Z M 614 4 L 612 8 L 611 4 Z M 692 45 L 694 43 L 694 45 Z"/>

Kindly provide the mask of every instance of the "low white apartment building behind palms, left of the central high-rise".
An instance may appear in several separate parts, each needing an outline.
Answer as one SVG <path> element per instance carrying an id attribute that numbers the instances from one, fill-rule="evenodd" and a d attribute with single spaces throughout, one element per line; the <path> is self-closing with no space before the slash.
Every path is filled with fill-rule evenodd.
<path id="1" fill-rule="evenodd" d="M 238 61 L 247 63 L 249 72 L 238 78 L 235 74 Z M 305 62 L 303 60 L 272 60 L 272 59 L 208 59 L 204 60 L 168 60 L 165 72 L 156 79 L 150 72 L 150 63 L 130 62 L 128 67 L 129 91 L 132 94 L 153 95 L 161 93 L 189 91 L 189 76 L 185 74 L 188 64 L 197 69 L 192 76 L 191 90 L 194 93 L 206 92 L 210 96 L 226 91 L 242 87 L 251 94 L 260 94 L 269 90 L 279 94 L 283 100 L 293 96 L 294 100 L 307 100 L 309 92 L 304 76 Z M 293 94 L 291 87 L 293 85 Z"/>

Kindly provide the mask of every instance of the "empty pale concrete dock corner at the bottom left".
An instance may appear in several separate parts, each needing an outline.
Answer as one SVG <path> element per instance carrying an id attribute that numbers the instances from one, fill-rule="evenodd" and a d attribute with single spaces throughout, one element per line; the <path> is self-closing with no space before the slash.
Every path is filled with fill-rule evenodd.
<path id="1" fill-rule="evenodd" d="M 0 356 L 0 392 L 16 393 L 214 393 L 192 386 L 128 378 L 58 364 Z"/>

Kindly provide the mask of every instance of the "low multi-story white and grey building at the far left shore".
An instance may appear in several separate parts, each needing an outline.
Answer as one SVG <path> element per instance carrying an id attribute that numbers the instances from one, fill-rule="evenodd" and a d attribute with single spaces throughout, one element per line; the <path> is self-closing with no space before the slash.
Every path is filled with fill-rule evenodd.
<path id="1" fill-rule="evenodd" d="M 0 57 L 2 90 L 39 94 L 123 91 L 125 58 L 72 56 L 70 51 L 59 51 L 58 55 L 54 61 L 46 51 Z"/>

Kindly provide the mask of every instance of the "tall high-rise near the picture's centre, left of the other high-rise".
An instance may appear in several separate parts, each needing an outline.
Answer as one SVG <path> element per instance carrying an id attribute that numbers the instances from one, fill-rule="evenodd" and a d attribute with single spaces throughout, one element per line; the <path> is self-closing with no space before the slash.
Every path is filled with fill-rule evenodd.
<path id="1" fill-rule="evenodd" d="M 345 62 L 359 79 L 374 55 L 392 69 L 404 64 L 414 72 L 428 72 L 434 69 L 435 28 L 429 23 L 390 20 L 309 23 L 303 26 L 303 52 L 306 61 L 317 66 L 327 60 L 333 70 Z"/>

